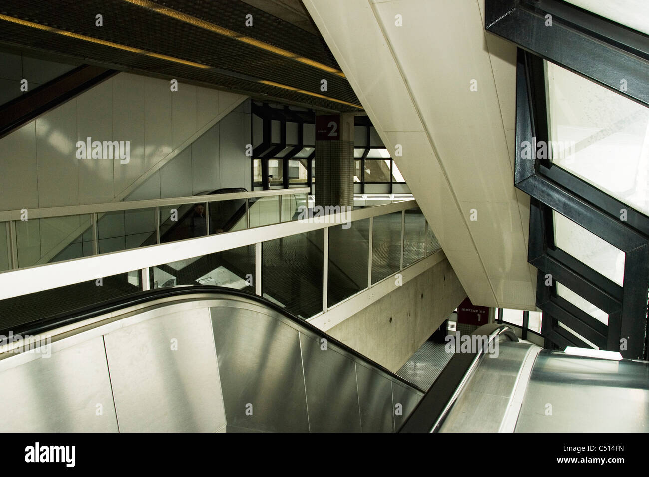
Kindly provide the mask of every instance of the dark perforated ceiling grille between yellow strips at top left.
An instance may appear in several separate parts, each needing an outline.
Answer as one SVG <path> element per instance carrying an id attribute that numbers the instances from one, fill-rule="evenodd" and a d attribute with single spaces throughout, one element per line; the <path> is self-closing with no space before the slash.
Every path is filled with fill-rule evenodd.
<path id="1" fill-rule="evenodd" d="M 337 67 L 321 38 L 245 3 L 234 0 L 209 2 L 174 0 L 159 3 L 210 21 L 219 27 L 246 34 L 296 54 L 303 54 L 310 60 Z M 245 92 L 260 99 L 269 95 L 278 99 L 310 104 L 315 108 L 339 111 L 355 109 L 339 102 L 258 83 L 258 80 L 267 80 L 352 104 L 360 104 L 349 82 L 341 76 L 300 64 L 295 60 L 125 1 L 5 1 L 0 2 L 0 12 L 6 16 L 58 30 L 208 65 L 211 69 L 178 64 L 146 54 L 70 38 L 55 32 L 0 21 L 0 41 L 19 47 L 45 49 L 91 63 L 112 65 L 117 69 L 135 69 L 155 75 L 173 76 L 181 80 L 209 83 L 217 87 Z M 97 14 L 103 16 L 103 27 L 95 26 Z M 252 28 L 245 27 L 247 14 L 253 15 Z M 322 79 L 328 82 L 326 92 L 320 90 Z"/>

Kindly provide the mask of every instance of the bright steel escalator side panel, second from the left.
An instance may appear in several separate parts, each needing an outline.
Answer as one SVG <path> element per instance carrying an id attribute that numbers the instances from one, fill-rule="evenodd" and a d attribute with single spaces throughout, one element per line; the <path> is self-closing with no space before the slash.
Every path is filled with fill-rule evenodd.
<path id="1" fill-rule="evenodd" d="M 188 308 L 161 308 L 149 312 L 154 318 L 104 334 L 121 432 L 225 426 L 210 312 Z"/>

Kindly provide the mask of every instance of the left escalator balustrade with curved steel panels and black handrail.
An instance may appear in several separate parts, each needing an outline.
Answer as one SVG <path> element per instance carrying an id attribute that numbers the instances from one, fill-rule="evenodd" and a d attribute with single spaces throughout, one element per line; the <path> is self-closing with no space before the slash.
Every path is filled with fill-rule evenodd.
<path id="1" fill-rule="evenodd" d="M 424 394 L 228 288 L 138 292 L 13 332 L 52 340 L 3 347 L 3 432 L 394 432 Z"/>

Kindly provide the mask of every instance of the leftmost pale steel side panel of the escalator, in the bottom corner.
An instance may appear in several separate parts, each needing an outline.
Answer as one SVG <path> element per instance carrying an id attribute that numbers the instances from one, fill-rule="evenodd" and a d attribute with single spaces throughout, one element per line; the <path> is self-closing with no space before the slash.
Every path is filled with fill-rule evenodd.
<path id="1" fill-rule="evenodd" d="M 116 432 L 101 336 L 43 345 L 0 361 L 0 431 Z"/>

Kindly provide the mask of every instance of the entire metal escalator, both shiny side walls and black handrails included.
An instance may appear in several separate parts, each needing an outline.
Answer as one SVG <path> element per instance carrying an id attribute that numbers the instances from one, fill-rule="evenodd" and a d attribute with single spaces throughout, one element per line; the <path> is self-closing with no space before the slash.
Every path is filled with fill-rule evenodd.
<path id="1" fill-rule="evenodd" d="M 13 333 L 3 432 L 649 430 L 649 363 L 540 349 L 503 325 L 474 332 L 484 347 L 456 353 L 426 393 L 228 288 L 138 292 Z"/>

